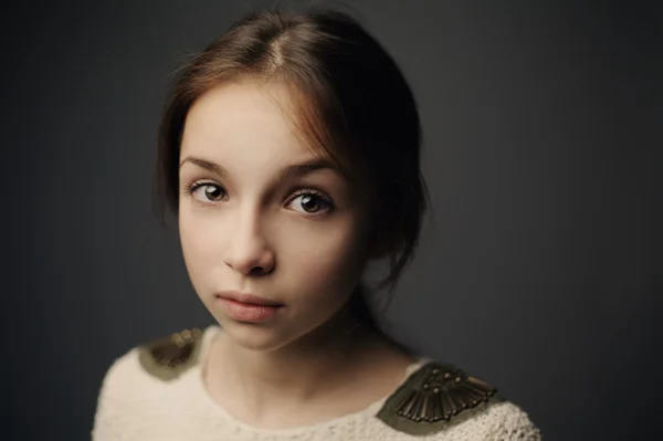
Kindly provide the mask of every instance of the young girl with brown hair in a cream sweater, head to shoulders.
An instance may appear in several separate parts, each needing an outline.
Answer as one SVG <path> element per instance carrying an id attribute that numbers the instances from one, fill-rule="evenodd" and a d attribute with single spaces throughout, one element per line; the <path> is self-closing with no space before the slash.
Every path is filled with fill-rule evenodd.
<path id="1" fill-rule="evenodd" d="M 108 370 L 93 439 L 538 440 L 496 389 L 381 332 L 425 207 L 417 106 L 339 12 L 254 13 L 180 72 L 158 170 L 186 266 L 220 326 Z"/>

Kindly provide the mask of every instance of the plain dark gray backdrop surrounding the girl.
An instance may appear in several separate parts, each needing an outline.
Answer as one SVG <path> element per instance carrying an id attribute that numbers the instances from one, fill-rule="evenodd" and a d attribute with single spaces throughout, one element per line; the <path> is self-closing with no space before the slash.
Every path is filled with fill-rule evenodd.
<path id="1" fill-rule="evenodd" d="M 87 439 L 116 357 L 211 323 L 151 212 L 156 126 L 177 61 L 263 3 L 2 7 L 0 438 Z M 657 429 L 661 14 L 352 3 L 425 133 L 434 216 L 392 330 L 497 385 L 549 440 Z"/>

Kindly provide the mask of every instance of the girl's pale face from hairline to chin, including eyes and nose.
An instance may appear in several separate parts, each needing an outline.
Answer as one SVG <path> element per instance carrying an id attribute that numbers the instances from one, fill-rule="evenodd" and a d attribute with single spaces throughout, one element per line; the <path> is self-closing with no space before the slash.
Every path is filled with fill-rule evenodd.
<path id="1" fill-rule="evenodd" d="M 179 232 L 202 303 L 240 345 L 275 349 L 340 309 L 367 261 L 367 202 L 290 124 L 287 88 L 201 96 L 180 154 Z M 254 295 L 281 306 L 243 307 Z"/>

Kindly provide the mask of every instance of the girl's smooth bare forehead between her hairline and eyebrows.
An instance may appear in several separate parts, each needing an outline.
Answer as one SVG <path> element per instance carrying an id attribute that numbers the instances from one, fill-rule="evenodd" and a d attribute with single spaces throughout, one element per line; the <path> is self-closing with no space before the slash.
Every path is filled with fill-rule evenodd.
<path id="1" fill-rule="evenodd" d="M 278 82 L 231 83 L 214 87 L 189 109 L 180 156 L 227 151 L 263 157 L 314 157 L 296 128 L 296 103 Z M 227 158 L 230 159 L 230 158 Z"/>

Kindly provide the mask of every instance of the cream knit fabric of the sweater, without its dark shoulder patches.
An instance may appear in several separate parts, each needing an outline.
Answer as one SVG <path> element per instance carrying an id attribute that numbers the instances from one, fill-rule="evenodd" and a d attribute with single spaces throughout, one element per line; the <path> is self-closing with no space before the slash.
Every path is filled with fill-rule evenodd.
<path id="1" fill-rule="evenodd" d="M 218 326 L 202 333 L 204 359 Z M 406 378 L 415 372 L 412 365 Z M 110 367 L 98 397 L 94 441 L 413 441 L 413 440 L 540 440 L 527 414 L 508 401 L 488 402 L 466 412 L 464 419 L 428 435 L 398 431 L 377 418 L 387 398 L 365 410 L 315 426 L 266 430 L 236 420 L 208 395 L 201 363 L 170 381 L 149 375 L 140 365 L 138 348 Z M 471 414 L 467 417 L 467 414 Z M 462 414 L 459 414 L 459 418 Z"/>

